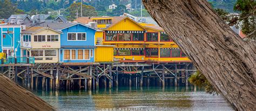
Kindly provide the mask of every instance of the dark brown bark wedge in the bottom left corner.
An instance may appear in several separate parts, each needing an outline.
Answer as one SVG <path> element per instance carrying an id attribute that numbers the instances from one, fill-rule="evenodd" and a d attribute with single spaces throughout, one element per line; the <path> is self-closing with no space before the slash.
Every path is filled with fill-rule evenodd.
<path id="1" fill-rule="evenodd" d="M 55 110 L 55 108 L 1 74 L 0 110 Z"/>

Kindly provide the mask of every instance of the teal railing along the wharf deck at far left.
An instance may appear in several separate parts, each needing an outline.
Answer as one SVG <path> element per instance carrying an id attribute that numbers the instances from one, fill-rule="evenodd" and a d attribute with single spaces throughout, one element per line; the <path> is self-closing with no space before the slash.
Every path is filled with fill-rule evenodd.
<path id="1" fill-rule="evenodd" d="M 35 64 L 35 57 L 2 58 L 0 64 Z"/>

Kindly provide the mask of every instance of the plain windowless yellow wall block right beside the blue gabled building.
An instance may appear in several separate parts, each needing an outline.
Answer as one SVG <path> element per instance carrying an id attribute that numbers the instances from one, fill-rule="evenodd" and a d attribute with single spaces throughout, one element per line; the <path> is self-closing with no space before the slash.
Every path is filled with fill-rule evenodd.
<path id="1" fill-rule="evenodd" d="M 96 46 L 95 62 L 113 62 L 113 47 Z"/>

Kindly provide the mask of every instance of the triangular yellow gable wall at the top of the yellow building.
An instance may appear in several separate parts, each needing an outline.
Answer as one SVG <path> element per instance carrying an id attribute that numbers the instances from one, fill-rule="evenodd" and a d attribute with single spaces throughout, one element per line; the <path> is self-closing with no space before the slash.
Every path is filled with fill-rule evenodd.
<path id="1" fill-rule="evenodd" d="M 134 21 L 129 18 L 125 18 L 120 21 L 116 25 L 107 28 L 108 31 L 144 31 L 143 27 L 140 27 L 138 24 L 134 23 Z"/>

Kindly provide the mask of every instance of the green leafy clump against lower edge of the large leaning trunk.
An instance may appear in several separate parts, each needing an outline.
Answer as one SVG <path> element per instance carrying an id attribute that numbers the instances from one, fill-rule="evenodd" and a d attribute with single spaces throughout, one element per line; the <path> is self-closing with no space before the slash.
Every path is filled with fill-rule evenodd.
<path id="1" fill-rule="evenodd" d="M 215 90 L 215 88 L 211 85 L 210 82 L 208 82 L 208 80 L 205 78 L 205 76 L 200 71 L 193 73 L 193 75 L 191 75 L 188 80 L 193 85 L 204 86 L 205 91 L 207 93 L 218 94 L 218 92 Z"/>

